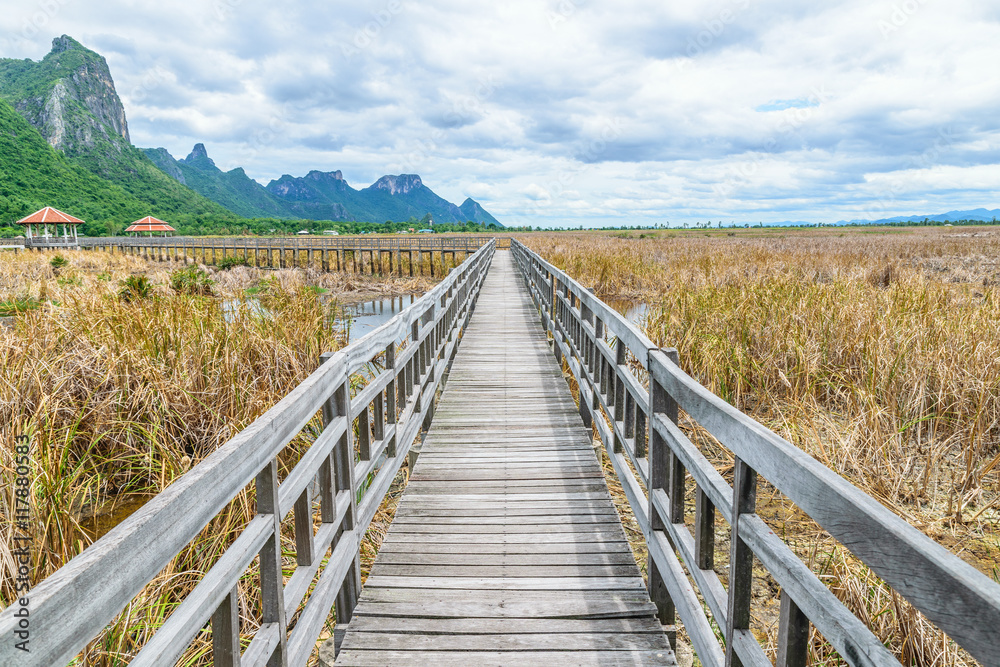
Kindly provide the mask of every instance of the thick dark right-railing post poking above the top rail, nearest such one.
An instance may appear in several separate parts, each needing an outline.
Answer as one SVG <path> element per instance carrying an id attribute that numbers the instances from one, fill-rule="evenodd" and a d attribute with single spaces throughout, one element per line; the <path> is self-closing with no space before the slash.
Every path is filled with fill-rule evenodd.
<path id="1" fill-rule="evenodd" d="M 664 352 L 672 363 L 676 364 L 678 362 L 677 350 L 668 349 L 664 350 Z M 650 533 L 653 533 L 655 531 L 663 532 L 666 529 L 659 511 L 653 504 L 653 492 L 656 489 L 668 490 L 670 478 L 673 476 L 672 472 L 675 468 L 679 467 L 679 462 L 675 463 L 677 457 L 670 450 L 670 446 L 659 432 L 652 427 L 654 421 L 652 417 L 656 413 L 664 414 L 670 421 L 676 424 L 678 407 L 677 402 L 667 393 L 666 389 L 652 378 L 649 383 L 649 403 L 649 529 Z M 683 490 L 683 477 L 681 478 L 681 482 L 682 486 L 680 488 Z M 670 496 L 670 500 L 671 516 L 668 519 L 673 523 L 676 523 L 678 520 L 683 521 L 683 514 L 680 517 L 674 516 L 676 503 L 673 496 Z M 683 496 L 681 496 L 680 509 L 683 512 Z M 652 556 L 649 556 L 647 560 L 647 572 L 649 574 L 649 598 L 656 605 L 657 617 L 660 623 L 664 626 L 669 626 L 667 637 L 670 640 L 670 647 L 676 650 L 677 630 L 674 627 L 676 623 L 676 608 L 674 607 L 674 601 L 670 598 L 667 585 L 663 581 L 663 575 L 656 566 L 656 562 Z"/>

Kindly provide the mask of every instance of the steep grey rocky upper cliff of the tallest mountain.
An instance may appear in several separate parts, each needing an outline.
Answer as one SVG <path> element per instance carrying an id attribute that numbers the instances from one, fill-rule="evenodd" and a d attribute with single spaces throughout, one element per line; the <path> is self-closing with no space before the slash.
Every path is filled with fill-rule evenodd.
<path id="1" fill-rule="evenodd" d="M 69 155 L 130 145 L 128 121 L 107 61 L 68 36 L 38 63 L 4 61 L 3 90 L 49 145 Z"/>

